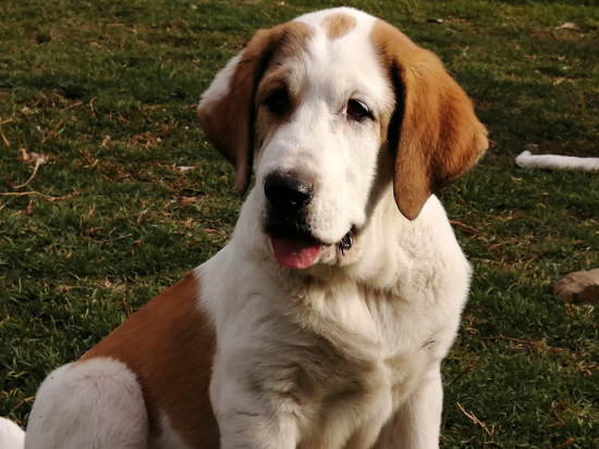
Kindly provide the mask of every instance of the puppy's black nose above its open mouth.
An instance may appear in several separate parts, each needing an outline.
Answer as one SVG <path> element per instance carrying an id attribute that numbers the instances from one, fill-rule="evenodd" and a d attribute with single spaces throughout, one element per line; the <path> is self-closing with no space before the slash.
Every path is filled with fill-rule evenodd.
<path id="1" fill-rule="evenodd" d="M 289 174 L 272 173 L 266 177 L 265 195 L 272 208 L 282 215 L 298 212 L 311 199 L 311 184 Z"/>

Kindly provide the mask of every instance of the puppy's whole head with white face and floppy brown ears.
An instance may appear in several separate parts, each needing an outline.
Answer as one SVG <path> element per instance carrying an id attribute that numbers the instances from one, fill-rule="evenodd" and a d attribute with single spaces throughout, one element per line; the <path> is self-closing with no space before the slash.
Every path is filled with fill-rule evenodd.
<path id="1" fill-rule="evenodd" d="M 254 167 L 264 232 L 279 263 L 300 269 L 351 250 L 384 186 L 415 220 L 488 147 L 435 54 L 347 8 L 258 32 L 198 115 L 241 194 Z"/>

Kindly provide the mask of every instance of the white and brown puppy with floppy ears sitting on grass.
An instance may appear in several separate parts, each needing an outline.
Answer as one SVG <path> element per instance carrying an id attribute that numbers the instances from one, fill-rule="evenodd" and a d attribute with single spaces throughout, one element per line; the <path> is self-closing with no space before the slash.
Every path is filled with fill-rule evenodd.
<path id="1" fill-rule="evenodd" d="M 255 187 L 231 241 L 41 385 L 27 449 L 436 448 L 470 267 L 436 190 L 487 149 L 441 61 L 340 8 L 204 93 Z"/>

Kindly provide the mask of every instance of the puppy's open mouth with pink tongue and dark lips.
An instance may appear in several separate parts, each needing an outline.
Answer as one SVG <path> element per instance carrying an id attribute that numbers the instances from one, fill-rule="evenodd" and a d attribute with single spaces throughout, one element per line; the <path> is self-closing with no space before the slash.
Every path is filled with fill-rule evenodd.
<path id="1" fill-rule="evenodd" d="M 318 240 L 309 229 L 274 227 L 268 232 L 277 262 L 290 269 L 304 270 L 311 266 L 322 248 L 335 246 L 345 255 L 354 244 L 355 228 L 352 227 L 337 244 Z"/>

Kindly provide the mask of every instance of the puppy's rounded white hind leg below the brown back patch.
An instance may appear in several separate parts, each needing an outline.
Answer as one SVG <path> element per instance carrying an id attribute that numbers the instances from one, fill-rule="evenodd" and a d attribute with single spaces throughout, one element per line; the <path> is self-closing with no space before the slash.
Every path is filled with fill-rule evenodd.
<path id="1" fill-rule="evenodd" d="M 64 365 L 41 384 L 25 449 L 146 449 L 142 387 L 122 362 L 96 358 Z"/>

